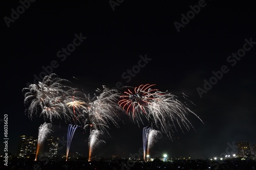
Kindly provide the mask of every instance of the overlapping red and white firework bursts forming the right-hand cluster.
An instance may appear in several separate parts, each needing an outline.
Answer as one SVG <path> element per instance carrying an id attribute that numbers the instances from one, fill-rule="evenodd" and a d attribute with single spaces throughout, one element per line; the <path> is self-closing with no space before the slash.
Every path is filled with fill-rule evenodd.
<path id="1" fill-rule="evenodd" d="M 193 127 L 186 114 L 192 113 L 197 118 L 199 116 L 182 104 L 177 96 L 168 91 L 152 89 L 153 86 L 155 85 L 146 84 L 135 88 L 125 87 L 127 90 L 120 96 L 119 106 L 137 122 L 142 122 L 142 116 L 146 117 L 148 122 L 165 132 L 171 139 L 173 130 L 169 128 L 169 124 L 172 123 L 176 130 L 175 124 L 178 124 L 183 133 L 183 127 L 186 130 Z"/>

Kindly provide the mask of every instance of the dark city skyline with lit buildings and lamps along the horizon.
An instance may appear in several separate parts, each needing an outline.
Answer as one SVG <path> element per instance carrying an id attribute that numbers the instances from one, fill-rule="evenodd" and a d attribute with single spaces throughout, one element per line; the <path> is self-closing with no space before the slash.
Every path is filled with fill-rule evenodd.
<path id="1" fill-rule="evenodd" d="M 37 137 L 36 136 L 21 135 L 20 136 L 20 141 L 21 142 L 19 142 L 19 143 L 22 144 L 23 143 L 23 141 L 22 141 L 23 139 L 25 139 L 25 140 L 32 140 L 33 139 L 35 141 L 34 142 L 35 148 L 32 149 L 34 152 L 31 151 L 31 149 L 29 149 L 29 147 L 26 147 L 27 151 L 30 152 L 29 155 L 31 155 L 31 154 L 35 155 L 36 144 L 37 144 Z M 66 136 L 66 140 L 67 140 L 67 136 Z M 55 137 L 55 136 L 50 135 L 48 138 L 46 138 L 46 141 L 43 143 L 42 150 L 40 151 L 40 154 L 38 156 L 40 157 L 40 155 L 44 155 L 44 156 L 51 157 L 51 158 L 54 158 L 57 155 L 58 156 L 66 156 L 66 153 L 65 153 L 66 152 L 66 144 L 67 144 L 66 140 L 65 139 L 63 140 L 63 137 L 61 139 L 60 137 Z M 52 142 L 52 141 L 54 141 L 54 143 L 56 143 L 56 144 L 53 145 L 53 149 L 51 147 L 52 144 L 50 144 L 50 142 Z M 27 144 L 27 143 L 24 143 L 24 144 Z M 250 146 L 249 147 L 249 151 L 248 151 L 248 149 L 244 149 L 245 147 L 248 147 L 248 146 Z M 214 155 L 211 158 L 214 158 L 214 157 L 225 158 L 225 156 L 227 156 L 227 155 L 229 155 L 231 157 L 234 157 L 233 155 L 240 156 L 240 157 L 252 156 L 252 155 L 255 155 L 255 148 L 256 148 L 255 146 L 256 146 L 256 143 L 250 143 L 249 141 L 237 141 L 237 142 L 234 142 L 234 143 L 228 143 L 228 147 L 226 148 L 226 153 L 221 153 L 220 156 L 219 155 Z M 24 148 L 24 146 L 19 145 L 17 147 L 18 152 L 16 154 L 12 154 L 12 155 L 13 156 L 17 156 L 19 158 L 25 158 L 24 154 L 20 154 L 21 153 L 20 150 L 23 149 L 23 148 Z M 48 150 L 49 150 L 49 152 L 48 152 Z M 33 153 L 31 153 L 31 152 L 33 152 Z M 158 154 L 156 156 L 156 154 L 154 154 L 156 152 L 157 151 L 153 150 L 152 151 L 152 153 L 153 153 L 152 155 L 154 155 L 157 158 L 160 158 L 163 155 L 163 154 Z M 88 157 L 88 153 L 87 152 L 82 152 L 80 150 L 72 151 L 70 154 L 72 155 L 72 153 L 79 153 L 79 154 L 82 154 L 84 157 Z M 98 152 L 98 153 L 100 154 L 100 152 Z M 166 152 L 163 152 L 163 153 L 166 153 Z M 140 157 L 143 158 L 143 155 L 141 155 L 141 153 L 139 153 L 139 154 L 140 154 Z M 107 156 L 107 155 L 109 155 L 109 156 Z M 107 155 L 101 155 L 101 157 L 109 158 L 109 157 L 113 157 L 113 155 L 115 155 L 115 154 L 111 155 L 111 153 L 108 153 Z M 94 153 L 94 156 L 97 156 L 97 153 Z M 123 158 L 129 158 L 129 157 L 131 157 L 131 155 L 127 155 L 127 154 L 126 155 L 125 154 L 123 154 L 123 155 L 120 154 L 120 155 L 116 155 L 116 156 L 120 157 L 120 158 L 122 158 L 122 157 Z M 183 158 L 184 156 L 183 155 L 176 155 L 176 156 L 168 155 L 168 157 Z M 191 158 L 191 157 L 187 156 L 186 158 Z M 195 158 L 196 157 L 191 158 L 191 159 L 195 159 Z M 209 159 L 209 158 L 210 157 L 203 157 L 201 159 Z"/>

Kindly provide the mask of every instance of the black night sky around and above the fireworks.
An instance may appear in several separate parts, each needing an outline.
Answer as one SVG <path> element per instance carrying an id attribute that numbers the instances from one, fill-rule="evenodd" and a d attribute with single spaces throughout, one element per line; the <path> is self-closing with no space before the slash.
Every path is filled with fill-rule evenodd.
<path id="1" fill-rule="evenodd" d="M 226 152 L 227 143 L 256 143 L 256 11 L 252 2 L 124 0 L 113 10 L 109 1 L 35 1 L 9 23 L 6 18 L 15 17 L 12 13 L 21 4 L 1 3 L 1 119 L 8 114 L 12 154 L 16 154 L 19 135 L 37 136 L 44 122 L 25 115 L 22 89 L 52 61 L 57 63 L 55 74 L 90 93 L 102 85 L 115 87 L 122 82 L 129 86 L 157 84 L 161 91 L 188 95 L 195 104 L 190 109 L 204 124 L 188 115 L 195 130 L 183 134 L 178 129 L 173 141 L 163 136 L 152 149 L 156 156 L 219 156 Z M 189 12 L 193 7 L 197 14 Z M 189 21 L 183 18 L 187 12 Z M 182 21 L 178 32 L 175 23 Z M 58 52 L 73 43 L 75 34 L 87 38 L 63 58 L 64 53 Z M 243 57 L 233 58 L 232 53 Z M 138 65 L 140 55 L 152 60 L 126 82 L 122 74 Z M 204 88 L 204 80 L 214 81 L 212 71 L 218 72 L 222 66 L 228 71 L 200 98 L 197 88 Z M 104 136 L 106 143 L 95 154 L 138 153 L 142 127 L 122 117 L 125 125 L 113 127 L 111 137 Z M 66 132 L 67 124 L 55 122 L 52 135 L 62 138 Z M 88 135 L 77 129 L 70 152 L 88 155 Z"/>

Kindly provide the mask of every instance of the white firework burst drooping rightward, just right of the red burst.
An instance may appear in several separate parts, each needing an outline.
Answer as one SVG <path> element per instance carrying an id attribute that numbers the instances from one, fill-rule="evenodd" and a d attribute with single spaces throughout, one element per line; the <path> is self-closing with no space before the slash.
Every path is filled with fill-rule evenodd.
<path id="1" fill-rule="evenodd" d="M 198 115 L 178 100 L 177 96 L 167 91 L 156 91 L 154 97 L 154 102 L 148 105 L 149 114 L 147 118 L 148 120 L 152 120 L 154 125 L 162 132 L 165 132 L 168 137 L 172 138 L 171 135 L 173 133 L 173 130 L 169 126 L 170 124 L 174 126 L 176 131 L 176 125 L 178 125 L 183 133 L 183 128 L 187 131 L 191 127 L 194 128 L 186 117 L 188 114 L 195 115 L 202 122 Z"/>

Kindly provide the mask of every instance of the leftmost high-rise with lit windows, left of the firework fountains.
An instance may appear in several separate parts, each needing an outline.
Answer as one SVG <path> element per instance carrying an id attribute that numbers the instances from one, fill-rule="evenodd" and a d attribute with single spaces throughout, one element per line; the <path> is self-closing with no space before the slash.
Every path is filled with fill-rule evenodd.
<path id="1" fill-rule="evenodd" d="M 36 153 L 37 138 L 33 136 L 20 136 L 18 149 L 19 158 L 29 158 L 31 154 Z"/>

